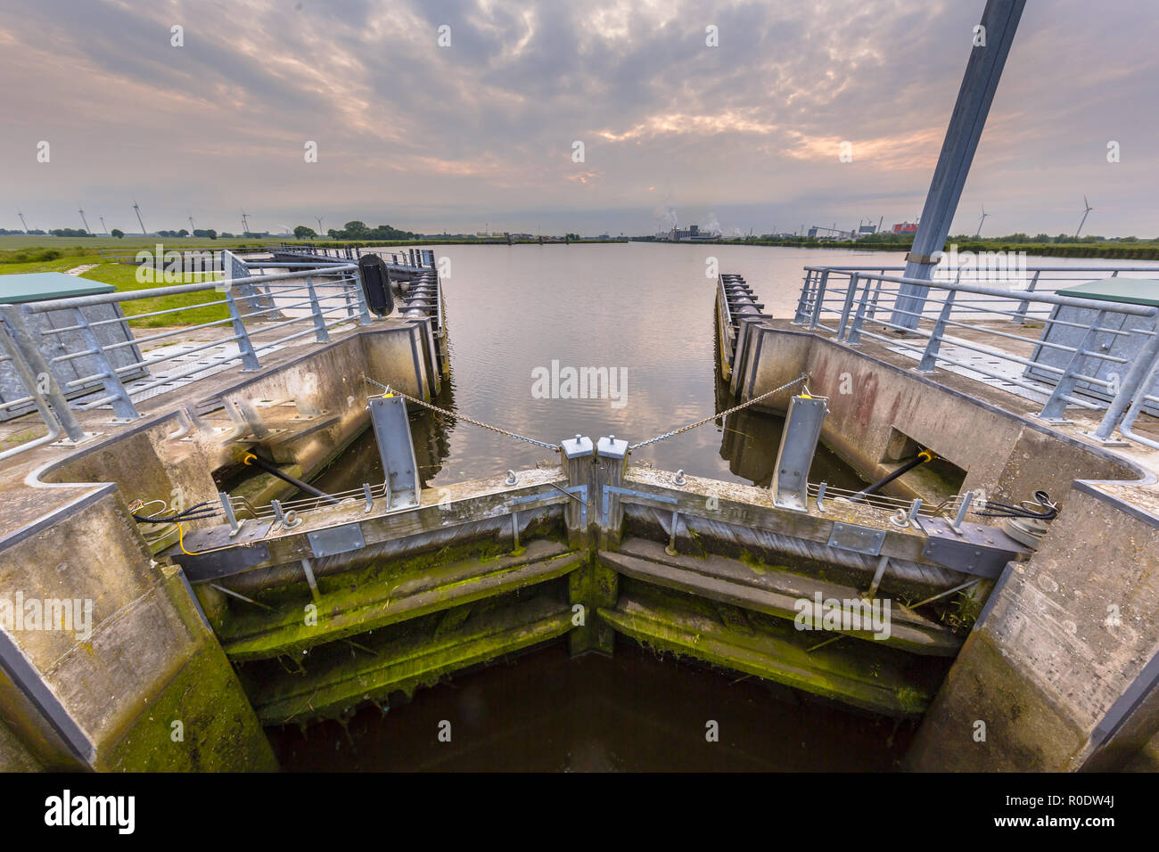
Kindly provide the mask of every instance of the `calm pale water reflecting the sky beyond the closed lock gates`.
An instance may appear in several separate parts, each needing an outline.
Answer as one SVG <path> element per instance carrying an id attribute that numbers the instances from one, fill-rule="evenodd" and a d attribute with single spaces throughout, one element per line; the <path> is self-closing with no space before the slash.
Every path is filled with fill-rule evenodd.
<path id="1" fill-rule="evenodd" d="M 901 254 L 744 246 L 437 246 L 444 279 L 451 381 L 438 405 L 546 443 L 582 434 L 635 443 L 722 410 L 734 401 L 716 381 L 706 258 L 739 272 L 775 316 L 792 316 L 806 263 L 901 263 Z M 537 399 L 537 369 L 626 370 L 622 406 L 608 399 Z M 619 373 L 621 374 L 622 373 Z M 615 405 L 613 405 L 615 402 Z M 620 406 L 620 407 L 617 407 Z M 436 421 L 440 418 L 433 418 Z M 469 424 L 415 421 L 415 451 L 429 486 L 533 467 L 551 451 Z M 657 467 L 767 485 L 781 421 L 745 413 L 633 453 Z M 357 459 L 357 460 L 355 460 Z M 851 486 L 831 457 L 814 479 Z M 320 480 L 353 488 L 381 478 L 367 434 Z"/>

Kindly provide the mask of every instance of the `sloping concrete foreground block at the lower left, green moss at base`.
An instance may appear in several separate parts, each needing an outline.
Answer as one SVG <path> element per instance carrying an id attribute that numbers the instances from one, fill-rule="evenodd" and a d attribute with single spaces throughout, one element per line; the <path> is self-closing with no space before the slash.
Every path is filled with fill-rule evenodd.
<path id="1" fill-rule="evenodd" d="M 41 712 L 66 731 L 76 762 L 101 770 L 271 769 L 269 744 L 216 639 L 176 570 L 151 559 L 121 496 L 108 490 L 78 508 L 64 534 L 66 548 L 58 527 L 10 544 L 0 588 L 42 606 L 80 602 L 71 624 L 58 610 L 6 636 L 54 699 Z M 29 686 L 28 676 L 20 679 Z M 223 735 L 227 750 L 217 742 Z M 59 765 L 61 755 L 43 760 Z"/>

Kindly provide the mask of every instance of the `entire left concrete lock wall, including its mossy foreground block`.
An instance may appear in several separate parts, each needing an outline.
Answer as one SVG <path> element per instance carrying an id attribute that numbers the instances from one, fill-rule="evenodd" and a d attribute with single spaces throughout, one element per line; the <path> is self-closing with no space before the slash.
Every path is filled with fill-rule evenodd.
<path id="1" fill-rule="evenodd" d="M 214 385 L 223 403 L 249 403 L 265 416 L 275 409 L 255 409 L 255 401 L 292 400 L 285 416 L 302 423 L 270 421 L 278 429 L 264 440 L 308 476 L 366 428 L 365 398 L 377 388 L 364 373 L 430 398 L 428 347 L 420 327 L 399 323 L 344 336 L 254 377 L 204 384 Z M 129 514 L 129 500 L 172 505 L 178 491 L 185 507 L 216 502 L 211 473 L 235 460 L 236 444 L 209 429 L 168 438 L 178 425 L 177 401 L 190 401 L 178 396 L 133 428 L 65 451 L 32 474 L 37 487 L 8 495 L 51 504 L 49 495 L 57 508 L 0 539 L 0 597 L 56 603 L 48 604 L 51 625 L 0 628 L 0 769 L 276 769 L 181 569 L 153 560 Z M 254 432 L 240 439 L 261 440 Z M 187 531 L 199 523 L 206 522 Z M 70 631 L 59 628 L 63 602 L 78 602 Z"/>

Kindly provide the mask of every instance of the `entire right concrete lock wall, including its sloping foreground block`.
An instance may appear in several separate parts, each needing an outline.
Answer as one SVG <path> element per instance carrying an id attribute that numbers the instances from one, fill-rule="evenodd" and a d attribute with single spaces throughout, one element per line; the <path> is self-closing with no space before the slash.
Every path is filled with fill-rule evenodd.
<path id="1" fill-rule="evenodd" d="M 1132 483 L 1153 478 L 1127 458 L 828 338 L 770 326 L 748 332 L 734 367 L 742 396 L 809 372 L 810 391 L 829 396 L 824 440 L 869 479 L 888 472 L 881 463 L 898 430 L 965 471 L 962 490 L 1021 501 L 1042 488 L 1063 507 L 1037 553 L 1012 563 L 991 594 L 909 767 L 1151 767 L 1159 690 L 1146 667 L 1159 651 L 1159 517 L 1129 501 L 1152 505 Z"/>

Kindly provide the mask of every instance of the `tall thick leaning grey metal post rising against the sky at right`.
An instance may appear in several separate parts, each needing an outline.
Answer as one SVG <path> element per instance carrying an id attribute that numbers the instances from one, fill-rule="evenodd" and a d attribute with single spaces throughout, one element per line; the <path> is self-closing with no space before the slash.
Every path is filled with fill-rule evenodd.
<path id="1" fill-rule="evenodd" d="M 976 30 L 970 59 L 957 93 L 957 102 L 950 115 L 946 139 L 942 143 L 938 166 L 934 168 L 926 203 L 921 210 L 918 232 L 913 236 L 910 254 L 906 255 L 905 278 L 930 281 L 938 262 L 934 257 L 946 245 L 949 226 L 957 210 L 962 187 L 970 173 L 970 163 L 982 137 L 982 129 L 990 112 L 990 104 L 998 89 L 998 81 L 1006 65 L 1014 32 L 1026 0 L 986 0 L 982 23 Z M 963 37 L 965 34 L 963 34 Z M 923 312 L 927 287 L 920 284 L 902 284 L 895 303 L 892 322 L 901 328 L 917 328 Z M 901 313 L 909 311 L 916 316 Z"/>

